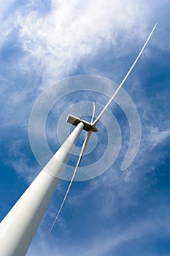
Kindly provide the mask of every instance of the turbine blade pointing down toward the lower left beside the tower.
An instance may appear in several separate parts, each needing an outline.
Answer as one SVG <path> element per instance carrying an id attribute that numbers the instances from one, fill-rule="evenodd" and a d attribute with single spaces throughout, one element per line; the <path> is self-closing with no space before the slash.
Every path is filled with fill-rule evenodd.
<path id="1" fill-rule="evenodd" d="M 49 231 L 48 235 L 50 235 L 51 231 L 53 230 L 53 227 L 54 227 L 54 225 L 55 225 L 55 222 L 57 221 L 58 216 L 59 216 L 59 214 L 61 213 L 61 210 L 62 210 L 62 208 L 63 208 L 63 204 L 65 203 L 66 197 L 67 197 L 67 195 L 69 194 L 69 189 L 70 189 L 71 186 L 72 186 L 72 182 L 74 181 L 74 177 L 76 176 L 78 167 L 79 167 L 80 162 L 81 162 L 81 160 L 82 160 L 82 156 L 83 156 L 83 154 L 84 154 L 84 152 L 85 152 L 85 148 L 86 148 L 86 146 L 88 145 L 88 140 L 90 139 L 90 135 L 91 135 L 91 134 L 92 134 L 92 132 L 88 132 L 88 133 L 87 133 L 87 135 L 86 135 L 86 137 L 85 137 L 85 140 L 84 140 L 84 143 L 82 144 L 82 149 L 81 149 L 81 152 L 80 152 L 80 156 L 79 156 L 79 159 L 77 160 L 77 165 L 76 165 L 76 167 L 75 167 L 75 169 L 74 169 L 74 173 L 73 173 L 72 179 L 71 179 L 71 181 L 70 181 L 70 184 L 69 184 L 68 189 L 66 190 L 66 195 L 65 195 L 65 197 L 63 198 L 63 202 L 61 203 L 61 207 L 60 207 L 60 209 L 59 209 L 59 211 L 58 211 L 58 214 L 57 214 L 56 217 L 55 217 L 55 220 L 54 220 L 54 222 L 53 222 L 53 225 L 52 225 L 51 228 L 50 228 L 50 231 Z"/>

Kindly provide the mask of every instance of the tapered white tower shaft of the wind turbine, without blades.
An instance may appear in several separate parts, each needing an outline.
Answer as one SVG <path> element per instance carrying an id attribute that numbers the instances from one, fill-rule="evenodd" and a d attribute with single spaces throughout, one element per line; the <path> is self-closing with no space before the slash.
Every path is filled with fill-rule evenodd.
<path id="1" fill-rule="evenodd" d="M 74 129 L 0 224 L 0 255 L 23 256 L 36 233 L 84 124 Z"/>

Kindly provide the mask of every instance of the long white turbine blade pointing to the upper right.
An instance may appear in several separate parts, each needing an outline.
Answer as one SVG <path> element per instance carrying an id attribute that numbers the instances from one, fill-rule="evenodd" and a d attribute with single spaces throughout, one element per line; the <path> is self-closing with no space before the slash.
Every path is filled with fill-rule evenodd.
<path id="1" fill-rule="evenodd" d="M 109 99 L 109 102 L 107 102 L 107 105 L 104 107 L 103 110 L 101 110 L 101 113 L 99 113 L 98 117 L 96 118 L 95 121 L 93 121 L 92 126 L 96 126 L 96 124 L 98 123 L 99 119 L 101 118 L 101 116 L 103 116 L 104 112 L 107 110 L 107 108 L 109 107 L 110 103 L 112 102 L 112 100 L 114 99 L 114 97 L 116 96 L 117 92 L 120 90 L 120 88 L 123 86 L 123 83 L 125 83 L 125 80 L 128 78 L 128 75 L 130 75 L 131 70 L 134 68 L 136 62 L 139 60 L 139 57 L 142 55 L 142 52 L 144 51 L 144 48 L 147 45 L 147 42 L 149 42 L 150 37 L 152 36 L 153 31 L 155 30 L 157 26 L 157 23 L 155 24 L 155 26 L 153 27 L 152 31 L 150 32 L 149 37 L 147 37 L 146 42 L 144 43 L 141 51 L 139 52 L 138 56 L 136 57 L 134 63 L 132 64 L 131 68 L 128 70 L 127 74 L 125 75 L 125 78 L 123 78 L 122 82 L 120 83 L 120 86 L 117 87 L 117 90 L 114 92 L 114 94 L 112 95 L 112 97 Z"/>

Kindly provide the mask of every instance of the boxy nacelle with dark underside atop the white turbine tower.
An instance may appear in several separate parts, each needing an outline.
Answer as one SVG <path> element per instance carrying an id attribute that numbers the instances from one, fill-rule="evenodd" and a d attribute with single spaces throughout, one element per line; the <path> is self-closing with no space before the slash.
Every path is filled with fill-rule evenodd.
<path id="1" fill-rule="evenodd" d="M 82 120 L 81 118 L 78 118 L 77 116 L 73 116 L 69 114 L 69 116 L 66 119 L 67 123 L 73 124 L 74 126 L 77 127 L 77 124 L 83 123 L 85 131 L 87 132 L 98 132 L 98 129 L 90 124 L 88 121 Z"/>

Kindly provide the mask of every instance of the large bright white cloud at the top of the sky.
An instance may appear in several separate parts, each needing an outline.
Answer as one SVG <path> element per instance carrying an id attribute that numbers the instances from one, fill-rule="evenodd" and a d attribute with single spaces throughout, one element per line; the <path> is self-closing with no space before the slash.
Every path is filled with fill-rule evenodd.
<path id="1" fill-rule="evenodd" d="M 119 56 L 127 52 L 126 42 L 145 34 L 147 12 L 141 13 L 142 7 L 126 0 L 53 1 L 48 15 L 20 13 L 15 24 L 24 50 L 36 57 L 49 82 L 69 75 L 83 57 L 93 58 L 102 47 L 116 45 Z"/>

